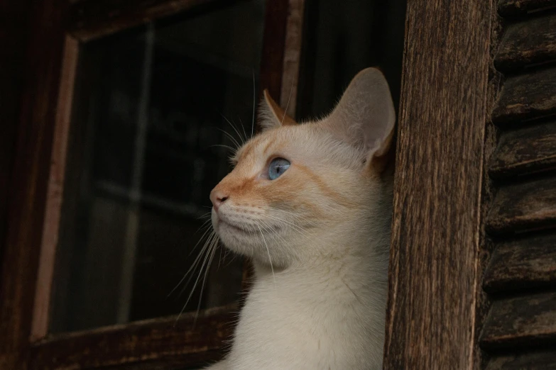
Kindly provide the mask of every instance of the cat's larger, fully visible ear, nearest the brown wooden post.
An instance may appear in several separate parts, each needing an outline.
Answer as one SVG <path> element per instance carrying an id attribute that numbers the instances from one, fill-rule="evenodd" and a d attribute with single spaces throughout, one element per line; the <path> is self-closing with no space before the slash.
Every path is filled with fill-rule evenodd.
<path id="1" fill-rule="evenodd" d="M 376 68 L 359 72 L 325 123 L 344 140 L 364 146 L 368 163 L 388 154 L 396 111 L 382 72 Z"/>

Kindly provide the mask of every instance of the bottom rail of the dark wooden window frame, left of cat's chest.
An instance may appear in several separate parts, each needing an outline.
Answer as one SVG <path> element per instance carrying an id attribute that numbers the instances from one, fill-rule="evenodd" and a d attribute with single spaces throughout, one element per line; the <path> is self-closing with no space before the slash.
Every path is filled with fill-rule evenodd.
<path id="1" fill-rule="evenodd" d="M 222 357 L 237 306 L 58 335 L 31 348 L 30 369 L 89 369 L 137 364 L 199 366 Z"/>

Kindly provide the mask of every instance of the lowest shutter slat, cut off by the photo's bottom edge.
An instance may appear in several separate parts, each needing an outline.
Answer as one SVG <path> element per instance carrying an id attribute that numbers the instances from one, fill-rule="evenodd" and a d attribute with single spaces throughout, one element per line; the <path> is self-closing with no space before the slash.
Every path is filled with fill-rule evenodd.
<path id="1" fill-rule="evenodd" d="M 494 357 L 486 370 L 556 370 L 556 351 Z"/>

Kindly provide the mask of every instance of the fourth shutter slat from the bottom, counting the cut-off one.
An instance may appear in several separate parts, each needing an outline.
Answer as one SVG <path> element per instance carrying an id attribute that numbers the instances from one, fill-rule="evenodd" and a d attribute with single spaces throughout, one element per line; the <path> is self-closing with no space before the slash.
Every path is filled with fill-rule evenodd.
<path id="1" fill-rule="evenodd" d="M 486 218 L 492 235 L 556 226 L 556 178 L 502 186 Z"/>

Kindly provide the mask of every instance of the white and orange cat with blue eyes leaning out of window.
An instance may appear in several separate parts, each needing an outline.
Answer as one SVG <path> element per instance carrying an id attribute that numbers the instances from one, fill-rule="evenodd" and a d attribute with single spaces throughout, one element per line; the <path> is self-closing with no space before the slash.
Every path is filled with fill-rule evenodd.
<path id="1" fill-rule="evenodd" d="M 212 226 L 254 283 L 211 370 L 381 369 L 396 113 L 364 69 L 334 111 L 295 123 L 268 93 L 261 133 L 212 190 Z M 391 168 L 391 166 L 389 167 Z"/>

